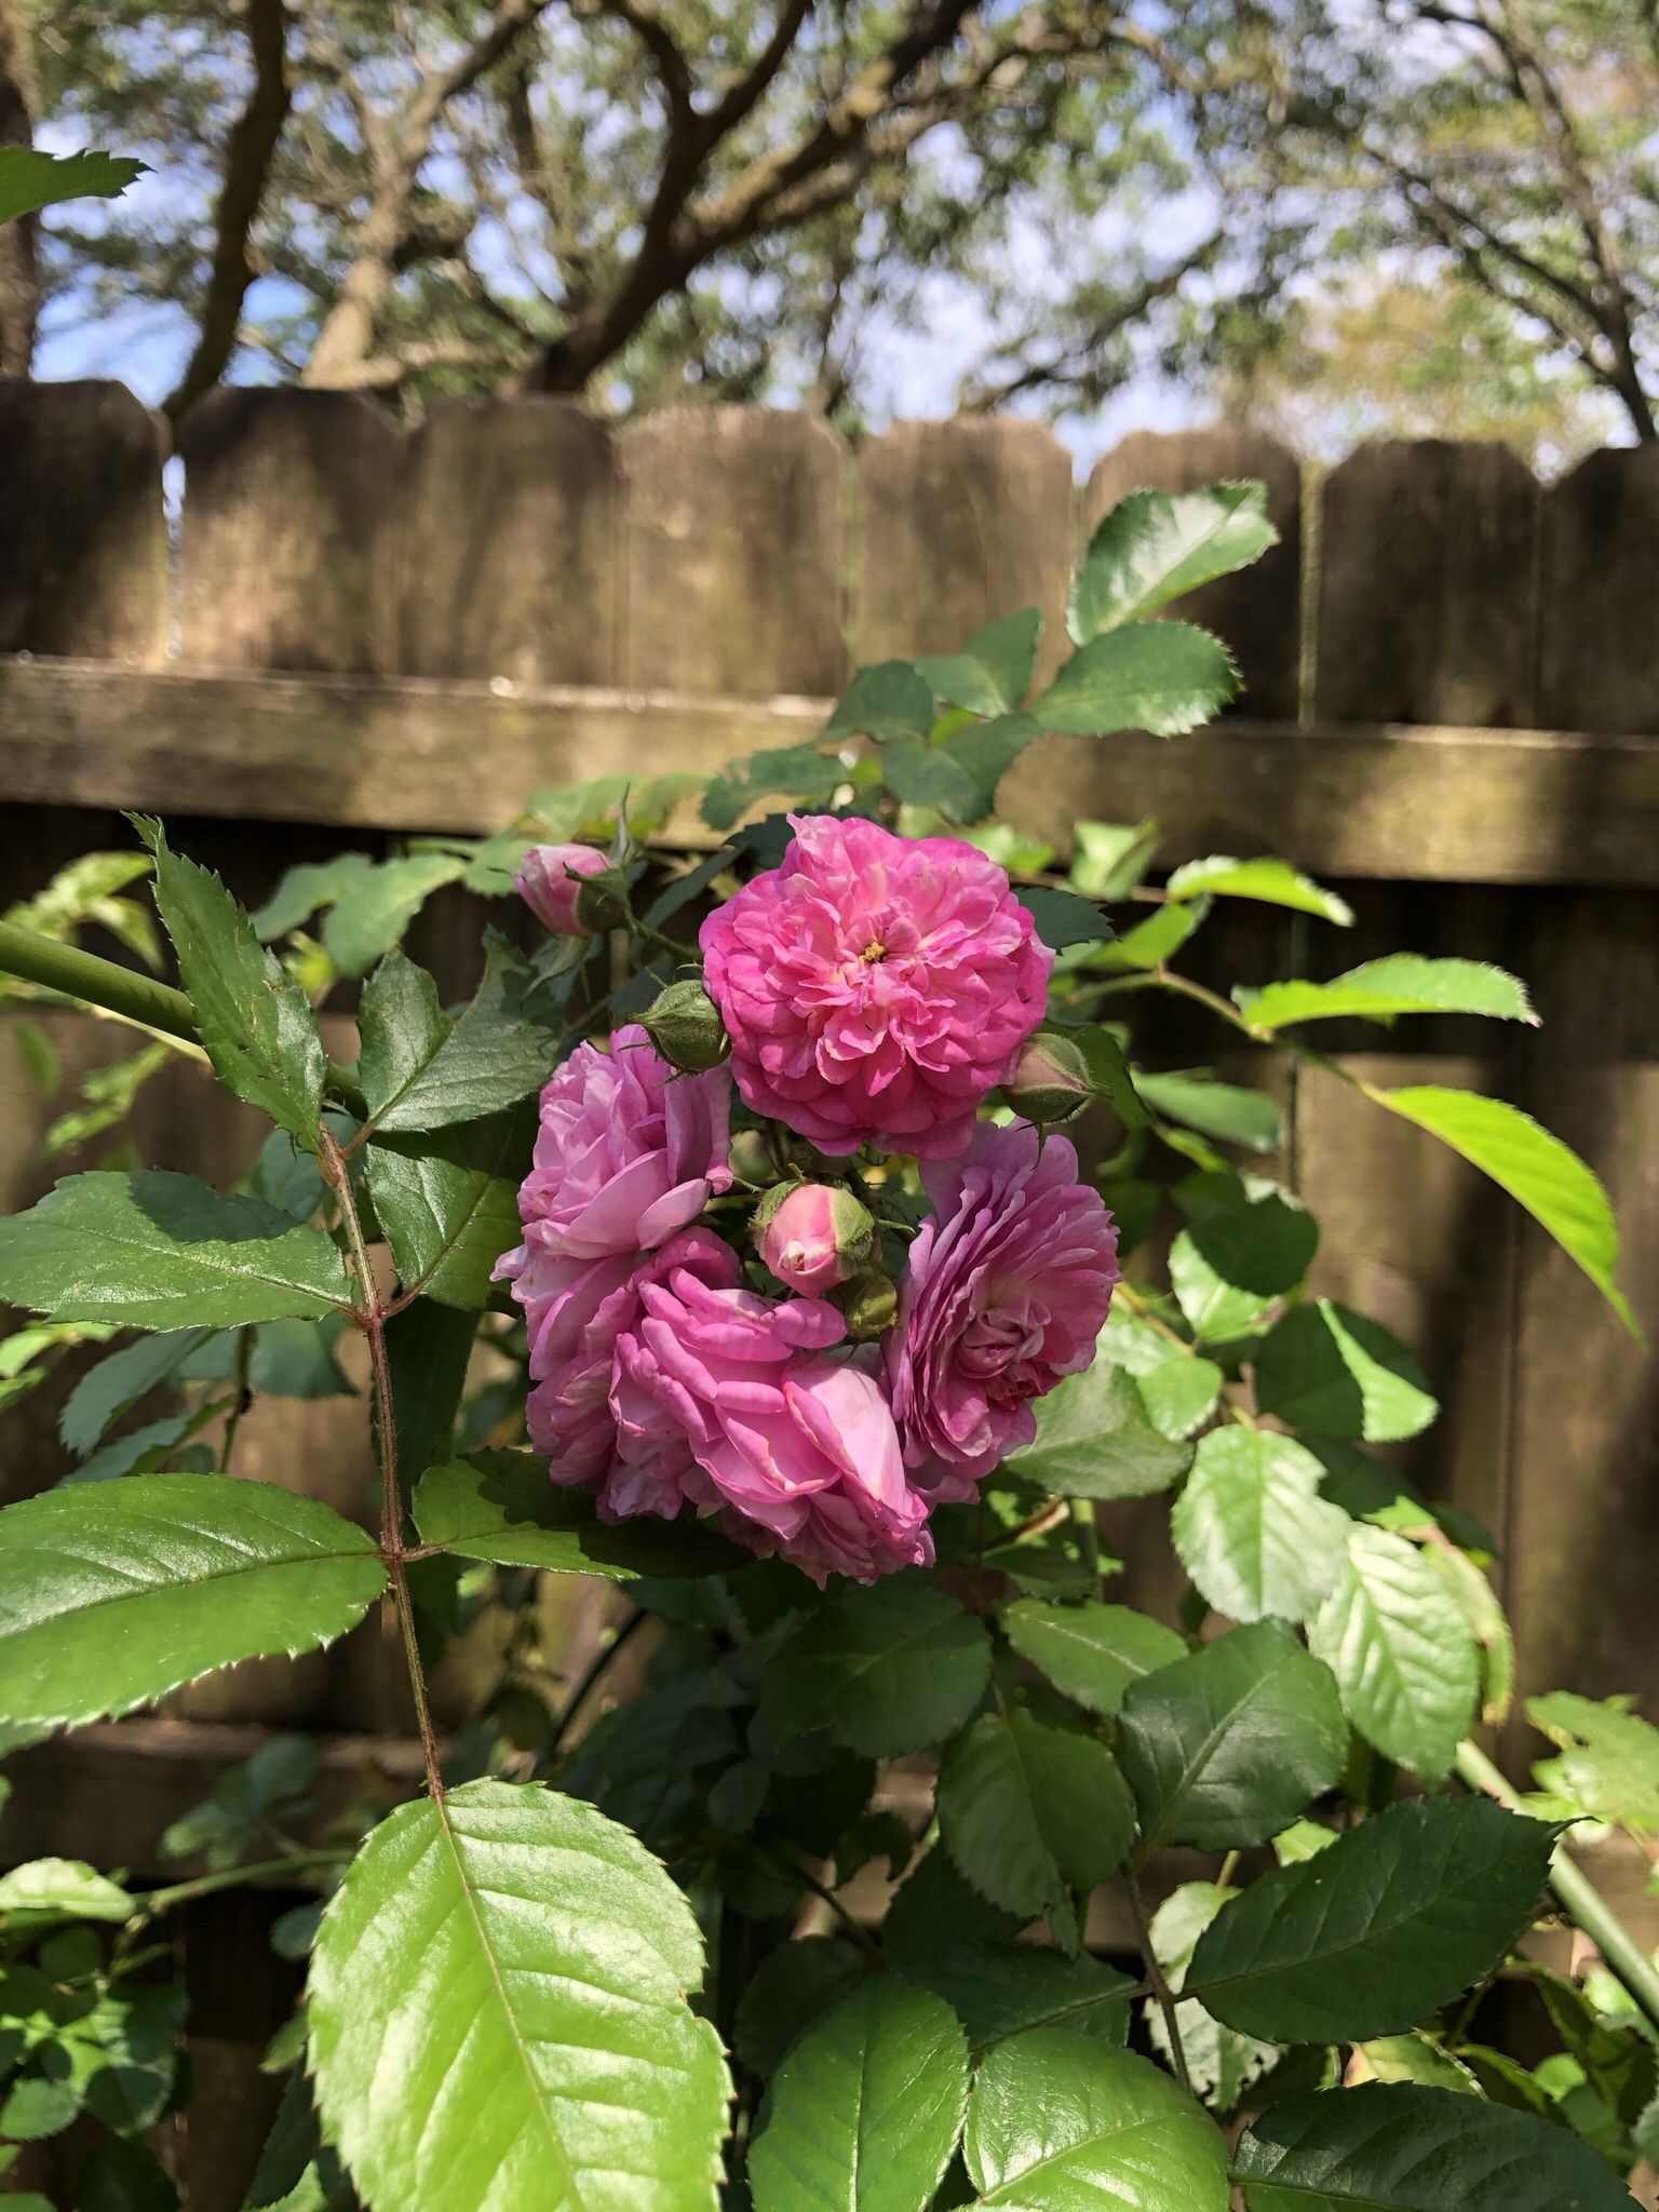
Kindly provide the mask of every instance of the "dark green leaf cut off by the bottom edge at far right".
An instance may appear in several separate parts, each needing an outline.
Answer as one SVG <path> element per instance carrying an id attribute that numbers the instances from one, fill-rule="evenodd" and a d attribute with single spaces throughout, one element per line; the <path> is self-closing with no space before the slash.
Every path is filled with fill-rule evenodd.
<path id="1" fill-rule="evenodd" d="M 1407 2084 L 1279 2104 L 1232 2170 L 1250 2212 L 1630 2212 L 1624 2183 L 1566 2128 Z"/>

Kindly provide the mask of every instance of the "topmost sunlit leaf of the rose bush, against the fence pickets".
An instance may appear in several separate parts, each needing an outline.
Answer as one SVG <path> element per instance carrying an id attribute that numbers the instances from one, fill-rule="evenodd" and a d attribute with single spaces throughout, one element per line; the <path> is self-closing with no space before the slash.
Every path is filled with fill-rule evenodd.
<path id="1" fill-rule="evenodd" d="M 1248 568 L 1279 544 L 1259 482 L 1203 491 L 1130 491 L 1102 518 L 1071 586 L 1068 626 L 1077 644 Z"/>

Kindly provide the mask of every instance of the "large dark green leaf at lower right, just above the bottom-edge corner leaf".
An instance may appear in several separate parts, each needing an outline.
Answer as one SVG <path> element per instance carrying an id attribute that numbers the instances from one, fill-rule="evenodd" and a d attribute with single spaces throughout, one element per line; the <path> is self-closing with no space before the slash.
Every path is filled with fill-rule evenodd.
<path id="1" fill-rule="evenodd" d="M 1491 1798 L 1407 1798 L 1259 1876 L 1199 1940 L 1190 1995 L 1281 2044 L 1400 2035 L 1531 1922 L 1555 1832 Z"/>

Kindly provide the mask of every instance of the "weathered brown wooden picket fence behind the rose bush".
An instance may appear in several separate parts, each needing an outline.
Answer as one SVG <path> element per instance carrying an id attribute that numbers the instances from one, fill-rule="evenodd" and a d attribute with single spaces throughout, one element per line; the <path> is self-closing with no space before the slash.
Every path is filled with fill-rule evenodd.
<path id="1" fill-rule="evenodd" d="M 1502 447 L 1378 445 L 1310 482 L 1263 438 L 1133 436 L 1079 489 L 1048 431 L 1015 420 L 909 422 L 852 453 L 821 422 L 748 409 L 615 434 L 515 398 L 445 407 L 405 436 L 349 396 L 217 392 L 181 458 L 170 540 L 157 425 L 124 387 L 0 385 L 7 900 L 77 849 L 124 843 L 115 810 L 137 805 L 192 816 L 177 841 L 252 902 L 299 858 L 491 830 L 535 787 L 708 768 L 812 732 L 849 666 L 947 650 L 1031 599 L 1053 664 L 1075 549 L 1113 500 L 1263 478 L 1283 544 L 1197 606 L 1239 655 L 1241 712 L 1168 745 L 1046 739 L 1011 812 L 1060 843 L 1079 816 L 1155 814 L 1170 863 L 1279 852 L 1358 909 L 1354 931 L 1219 914 L 1194 942 L 1219 987 L 1394 949 L 1526 975 L 1540 1033 L 1442 1020 L 1332 1035 L 1371 1079 L 1473 1084 L 1575 1144 L 1613 1192 L 1626 1287 L 1659 1329 L 1659 451 L 1597 453 L 1542 489 Z M 460 894 L 422 918 L 420 951 L 453 987 L 476 920 Z M 73 1068 L 119 1048 L 91 1024 L 55 1029 Z M 1217 1044 L 1177 1004 L 1148 1057 L 1188 1066 Z M 1279 1172 L 1325 1225 L 1318 1287 L 1422 1349 L 1444 1418 L 1407 1464 L 1500 1533 L 1522 1681 L 1659 1710 L 1644 1354 L 1542 1232 L 1427 1137 L 1316 1075 L 1223 1060 L 1272 1068 Z M 4 1060 L 0 1097 L 11 1210 L 60 1170 L 42 1168 L 40 1102 Z M 146 1095 L 137 1144 L 228 1179 L 252 1121 L 204 1104 L 181 1068 Z M 0 1422 L 0 1495 L 62 1471 L 49 1413 Z M 336 1402 L 268 1409 L 246 1467 L 358 1509 L 361 1427 Z M 1146 1528 L 1121 1535 L 1157 1604 L 1170 1568 Z M 150 1871 L 164 1820 L 272 1723 L 327 1734 L 332 1787 L 407 1772 L 394 1674 L 354 1639 L 22 1754 L 0 1856 Z M 1509 1752 L 1524 1754 L 1520 1728 Z M 204 1973 L 210 1936 L 186 1942 Z M 272 1989 L 270 2008 L 283 2002 Z M 212 2002 L 192 2028 L 197 2070 L 239 2084 L 201 2121 L 197 2212 L 237 2201 L 215 2130 L 234 2139 L 259 2108 L 259 2026 L 246 1991 L 239 2004 L 223 2048 Z"/>

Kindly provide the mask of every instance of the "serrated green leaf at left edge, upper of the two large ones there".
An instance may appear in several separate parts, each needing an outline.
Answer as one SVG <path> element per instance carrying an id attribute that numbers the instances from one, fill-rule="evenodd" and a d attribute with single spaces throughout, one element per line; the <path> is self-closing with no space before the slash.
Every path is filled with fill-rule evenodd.
<path id="1" fill-rule="evenodd" d="M 345 1259 L 263 1199 L 221 1199 L 190 1175 L 71 1175 L 0 1219 L 0 1298 L 58 1321 L 135 1329 L 319 1321 L 349 1305 Z"/>

